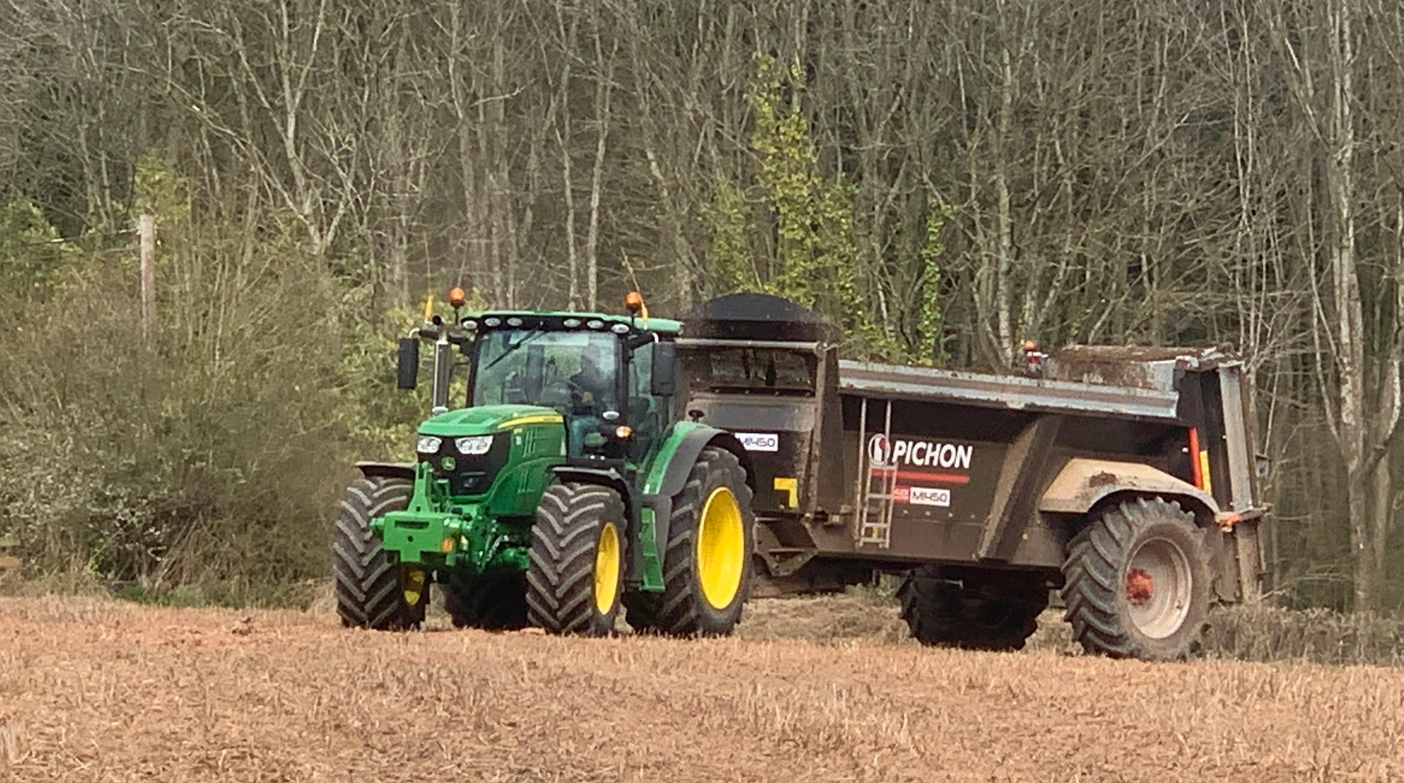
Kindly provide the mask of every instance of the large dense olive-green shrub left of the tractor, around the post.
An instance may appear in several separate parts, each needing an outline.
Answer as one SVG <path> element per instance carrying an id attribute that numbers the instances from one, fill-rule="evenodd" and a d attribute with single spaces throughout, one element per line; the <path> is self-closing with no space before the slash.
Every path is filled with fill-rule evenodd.
<path id="1" fill-rule="evenodd" d="M 161 237 L 149 340 L 135 269 L 98 253 L 0 331 L 0 537 L 31 577 L 279 602 L 326 573 L 351 462 L 409 448 L 396 328 L 291 243 Z"/>

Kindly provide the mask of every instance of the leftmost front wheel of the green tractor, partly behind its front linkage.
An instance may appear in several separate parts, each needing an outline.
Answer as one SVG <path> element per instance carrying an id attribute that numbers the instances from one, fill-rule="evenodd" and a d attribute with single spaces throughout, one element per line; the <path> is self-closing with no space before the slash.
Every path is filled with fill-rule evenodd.
<path id="1" fill-rule="evenodd" d="M 371 519 L 410 504 L 414 487 L 403 479 L 357 479 L 347 487 L 331 532 L 331 575 L 341 624 L 400 630 L 424 622 L 425 574 L 390 563 Z"/>

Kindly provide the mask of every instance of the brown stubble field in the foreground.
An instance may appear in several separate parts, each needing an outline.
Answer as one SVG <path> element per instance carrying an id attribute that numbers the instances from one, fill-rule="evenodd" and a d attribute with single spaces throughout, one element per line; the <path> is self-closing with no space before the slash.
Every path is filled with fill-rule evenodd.
<path id="1" fill-rule="evenodd" d="M 768 638 L 826 627 L 869 641 Z M 852 598 L 744 629 L 0 599 L 0 780 L 1404 780 L 1404 671 L 927 650 Z"/>

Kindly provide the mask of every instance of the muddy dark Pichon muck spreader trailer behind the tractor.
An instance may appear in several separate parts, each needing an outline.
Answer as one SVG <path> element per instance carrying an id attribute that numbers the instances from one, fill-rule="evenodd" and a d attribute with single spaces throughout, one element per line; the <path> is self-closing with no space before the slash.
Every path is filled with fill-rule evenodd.
<path id="1" fill-rule="evenodd" d="M 684 319 L 689 415 L 751 457 L 757 595 L 903 574 L 915 638 L 1021 648 L 1052 589 L 1091 652 L 1188 655 L 1259 595 L 1243 365 L 1081 347 L 1042 377 L 840 361 L 840 334 L 739 293 Z"/>

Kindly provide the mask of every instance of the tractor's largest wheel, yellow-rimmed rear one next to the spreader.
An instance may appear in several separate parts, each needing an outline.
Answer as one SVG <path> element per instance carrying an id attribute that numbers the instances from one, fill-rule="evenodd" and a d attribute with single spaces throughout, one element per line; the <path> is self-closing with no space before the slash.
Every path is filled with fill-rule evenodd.
<path id="1" fill-rule="evenodd" d="M 663 592 L 628 595 L 625 619 L 671 636 L 731 633 L 751 594 L 754 528 L 741 463 L 724 449 L 702 449 L 673 498 Z"/>

